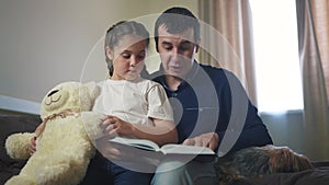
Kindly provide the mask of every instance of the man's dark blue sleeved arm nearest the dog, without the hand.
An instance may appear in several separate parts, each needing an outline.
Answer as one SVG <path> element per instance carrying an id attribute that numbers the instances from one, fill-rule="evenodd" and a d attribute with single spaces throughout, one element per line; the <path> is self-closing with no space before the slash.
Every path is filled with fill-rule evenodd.
<path id="1" fill-rule="evenodd" d="M 220 91 L 222 113 L 218 120 L 223 120 L 224 117 L 228 124 L 223 126 L 219 125 L 223 123 L 218 122 L 219 128 L 217 127 L 216 132 L 219 136 L 219 148 L 236 151 L 253 146 L 272 144 L 273 141 L 258 115 L 257 107 L 249 100 L 238 78 L 231 72 L 227 72 L 226 77 L 228 83 Z"/>

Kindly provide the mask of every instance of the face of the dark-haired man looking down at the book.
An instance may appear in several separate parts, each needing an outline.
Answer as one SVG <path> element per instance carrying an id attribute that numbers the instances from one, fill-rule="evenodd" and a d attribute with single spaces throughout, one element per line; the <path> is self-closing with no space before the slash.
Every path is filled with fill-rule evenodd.
<path id="1" fill-rule="evenodd" d="M 198 50 L 197 43 L 194 43 L 193 28 L 171 34 L 167 32 L 166 25 L 161 25 L 158 34 L 158 53 L 164 73 L 183 79 L 192 68 L 195 53 Z"/>

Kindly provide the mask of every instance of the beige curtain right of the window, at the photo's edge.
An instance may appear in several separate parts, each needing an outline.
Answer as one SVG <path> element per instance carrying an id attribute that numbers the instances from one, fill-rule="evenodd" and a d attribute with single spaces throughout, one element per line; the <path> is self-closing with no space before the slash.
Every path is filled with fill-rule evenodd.
<path id="1" fill-rule="evenodd" d="M 296 0 L 306 154 L 329 159 L 329 3 Z"/>

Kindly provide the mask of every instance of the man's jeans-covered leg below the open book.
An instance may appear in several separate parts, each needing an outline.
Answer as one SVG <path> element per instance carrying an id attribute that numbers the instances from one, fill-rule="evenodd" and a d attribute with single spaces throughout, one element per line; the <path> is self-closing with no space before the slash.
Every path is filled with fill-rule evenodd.
<path id="1" fill-rule="evenodd" d="M 217 185 L 213 162 L 164 160 L 158 166 L 152 185 Z"/>

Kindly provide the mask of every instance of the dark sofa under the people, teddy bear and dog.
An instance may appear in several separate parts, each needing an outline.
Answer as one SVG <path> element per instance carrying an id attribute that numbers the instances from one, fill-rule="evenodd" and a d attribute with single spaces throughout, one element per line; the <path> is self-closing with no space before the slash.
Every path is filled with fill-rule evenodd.
<path id="1" fill-rule="evenodd" d="M 36 115 L 0 115 L 0 185 L 4 184 L 12 175 L 19 174 L 24 160 L 11 159 L 4 149 L 5 138 L 13 132 L 34 131 L 41 118 Z M 88 169 L 87 175 L 80 185 L 102 185 L 111 184 L 111 174 L 104 170 L 104 158 L 98 153 Z M 313 162 L 315 170 L 297 173 L 281 173 L 265 175 L 262 178 L 248 178 L 235 182 L 238 184 L 260 185 L 327 185 L 329 182 L 329 161 Z"/>

